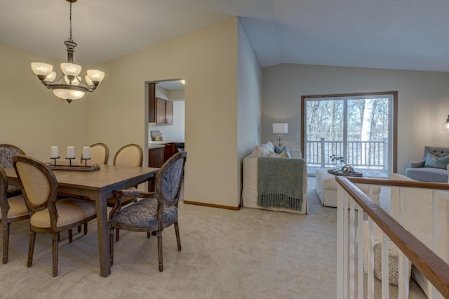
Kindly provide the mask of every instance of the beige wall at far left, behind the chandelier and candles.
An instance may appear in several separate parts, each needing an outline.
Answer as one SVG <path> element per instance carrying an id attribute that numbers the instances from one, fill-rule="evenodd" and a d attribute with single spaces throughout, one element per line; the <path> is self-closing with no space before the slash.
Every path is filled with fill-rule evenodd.
<path id="1" fill-rule="evenodd" d="M 62 74 L 60 61 L 0 44 L 0 143 L 16 145 L 41 161 L 49 161 L 52 145 L 58 145 L 65 161 L 65 149 L 73 145 L 76 158 L 81 158 L 82 147 L 89 145 L 86 103 L 95 96 L 68 104 L 41 84 L 31 62 L 51 63 Z"/>

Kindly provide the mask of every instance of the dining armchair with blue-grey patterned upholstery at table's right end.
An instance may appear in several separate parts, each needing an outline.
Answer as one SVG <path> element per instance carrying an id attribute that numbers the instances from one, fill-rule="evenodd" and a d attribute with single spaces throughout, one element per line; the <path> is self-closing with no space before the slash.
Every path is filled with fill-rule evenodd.
<path id="1" fill-rule="evenodd" d="M 110 264 L 114 264 L 114 229 L 147 232 L 147 237 L 155 232 L 159 255 L 159 271 L 163 270 L 162 231 L 175 225 L 177 250 L 181 251 L 180 231 L 177 223 L 177 203 L 180 198 L 182 173 L 187 152 L 178 152 L 163 164 L 156 175 L 155 191 L 116 190 L 116 204 L 109 213 Z M 121 199 L 139 197 L 123 209 Z"/>

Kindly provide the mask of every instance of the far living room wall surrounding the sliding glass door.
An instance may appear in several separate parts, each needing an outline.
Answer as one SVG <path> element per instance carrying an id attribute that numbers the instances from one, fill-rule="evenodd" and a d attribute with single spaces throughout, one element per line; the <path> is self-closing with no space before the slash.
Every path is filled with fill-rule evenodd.
<path id="1" fill-rule="evenodd" d="M 425 145 L 449 146 L 441 124 L 449 114 L 449 73 L 354 67 L 276 65 L 263 69 L 262 142 L 272 123 L 288 122 L 284 144 L 300 148 L 301 95 L 398 91 L 398 173 L 422 158 Z"/>

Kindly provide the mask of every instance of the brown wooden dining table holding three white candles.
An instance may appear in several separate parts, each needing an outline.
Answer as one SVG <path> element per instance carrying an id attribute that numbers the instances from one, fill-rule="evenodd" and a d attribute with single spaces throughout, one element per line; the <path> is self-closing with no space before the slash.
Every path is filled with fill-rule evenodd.
<path id="1" fill-rule="evenodd" d="M 113 196 L 114 190 L 146 182 L 158 171 L 159 168 L 118 165 L 100 165 L 98 171 L 53 171 L 58 180 L 58 192 L 82 195 L 96 201 L 101 277 L 111 274 L 107 199 Z M 14 168 L 6 168 L 5 172 L 11 185 L 19 185 Z"/>

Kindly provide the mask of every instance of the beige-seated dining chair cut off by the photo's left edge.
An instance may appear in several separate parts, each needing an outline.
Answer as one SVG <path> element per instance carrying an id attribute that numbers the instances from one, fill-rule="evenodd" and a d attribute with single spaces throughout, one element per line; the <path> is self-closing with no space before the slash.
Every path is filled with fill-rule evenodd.
<path id="1" fill-rule="evenodd" d="M 29 218 L 28 208 L 22 194 L 15 197 L 7 197 L 8 177 L 0 167 L 0 218 L 3 226 L 3 263 L 8 263 L 9 225 L 12 222 Z"/>

